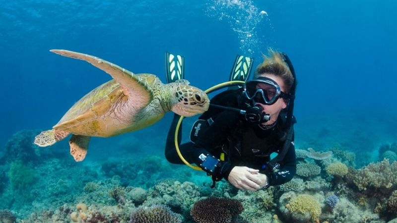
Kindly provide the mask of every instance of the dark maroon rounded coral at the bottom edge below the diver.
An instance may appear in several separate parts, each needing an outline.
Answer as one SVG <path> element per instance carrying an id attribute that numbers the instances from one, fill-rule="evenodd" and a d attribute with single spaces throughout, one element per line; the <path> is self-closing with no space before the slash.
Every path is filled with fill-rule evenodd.
<path id="1" fill-rule="evenodd" d="M 230 223 L 243 210 L 239 200 L 210 197 L 196 202 L 190 215 L 198 223 Z"/>

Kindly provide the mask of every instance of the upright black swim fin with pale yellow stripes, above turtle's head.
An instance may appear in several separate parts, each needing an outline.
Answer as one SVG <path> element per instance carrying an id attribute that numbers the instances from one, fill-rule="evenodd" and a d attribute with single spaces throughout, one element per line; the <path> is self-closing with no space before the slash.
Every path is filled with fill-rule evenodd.
<path id="1" fill-rule="evenodd" d="M 185 57 L 180 55 L 173 55 L 165 52 L 165 75 L 167 83 L 172 83 L 177 80 L 185 79 Z"/>

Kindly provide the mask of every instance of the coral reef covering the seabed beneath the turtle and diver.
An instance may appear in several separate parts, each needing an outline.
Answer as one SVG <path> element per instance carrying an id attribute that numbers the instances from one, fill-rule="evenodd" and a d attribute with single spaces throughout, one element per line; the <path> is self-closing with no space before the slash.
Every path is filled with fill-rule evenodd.
<path id="1" fill-rule="evenodd" d="M 0 222 L 144 223 L 144 216 L 155 216 L 194 223 L 209 221 L 194 218 L 209 212 L 207 206 L 226 213 L 217 219 L 237 223 L 386 223 L 397 217 L 397 143 L 382 145 L 379 161 L 361 168 L 346 148 L 297 149 L 292 181 L 250 192 L 228 182 L 211 189 L 204 172 L 159 156 L 75 163 L 67 145 L 43 150 L 31 143 L 34 135 L 14 134 L 0 155 Z"/>

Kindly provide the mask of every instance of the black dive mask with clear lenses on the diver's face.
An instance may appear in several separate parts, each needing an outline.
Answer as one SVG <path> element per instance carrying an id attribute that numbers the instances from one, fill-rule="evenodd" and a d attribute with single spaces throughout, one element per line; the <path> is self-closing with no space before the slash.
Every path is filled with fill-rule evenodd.
<path id="1" fill-rule="evenodd" d="M 273 105 L 279 98 L 288 98 L 288 95 L 281 91 L 280 86 L 267 77 L 258 77 L 245 82 L 244 92 L 249 100 L 265 105 Z"/>

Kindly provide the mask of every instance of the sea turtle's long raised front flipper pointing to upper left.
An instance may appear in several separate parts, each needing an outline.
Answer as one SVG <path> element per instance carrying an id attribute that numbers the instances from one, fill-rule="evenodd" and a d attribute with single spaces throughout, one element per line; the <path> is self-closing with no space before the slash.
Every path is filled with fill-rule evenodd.
<path id="1" fill-rule="evenodd" d="M 73 51 L 66 50 L 51 50 L 55 54 L 67 56 L 75 59 L 85 60 L 99 69 L 110 74 L 125 90 L 125 94 L 132 96 L 132 98 L 139 97 L 144 102 L 150 102 L 153 98 L 152 91 L 149 86 L 142 81 L 138 75 L 133 74 L 131 71 L 124 69 L 116 64 L 113 64 L 104 59 L 87 54 L 80 54 Z"/>

